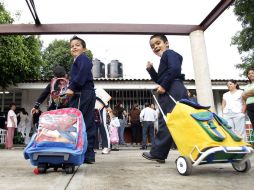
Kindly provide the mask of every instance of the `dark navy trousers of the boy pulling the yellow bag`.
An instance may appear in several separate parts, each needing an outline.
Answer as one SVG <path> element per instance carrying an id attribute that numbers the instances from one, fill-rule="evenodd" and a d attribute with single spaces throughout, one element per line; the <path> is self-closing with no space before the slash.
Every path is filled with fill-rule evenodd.
<path id="1" fill-rule="evenodd" d="M 180 80 L 172 82 L 168 93 L 176 101 L 182 98 L 188 98 L 187 90 L 184 87 L 183 82 Z M 170 113 L 175 107 L 175 103 L 170 99 L 168 93 L 158 95 L 158 102 L 165 114 Z M 160 159 L 166 159 L 172 146 L 173 139 L 163 119 L 162 114 L 159 115 L 158 122 L 158 132 L 154 138 L 154 144 L 152 145 L 150 154 Z"/>

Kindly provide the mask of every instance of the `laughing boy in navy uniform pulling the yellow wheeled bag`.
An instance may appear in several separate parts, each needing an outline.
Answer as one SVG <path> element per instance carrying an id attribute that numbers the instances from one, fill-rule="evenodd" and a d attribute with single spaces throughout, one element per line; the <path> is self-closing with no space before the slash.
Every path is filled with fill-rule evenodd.
<path id="1" fill-rule="evenodd" d="M 169 113 L 173 110 L 175 103 L 169 98 L 170 94 L 176 101 L 188 98 L 187 90 L 184 87 L 184 74 L 182 70 L 182 56 L 169 49 L 167 37 L 162 34 L 155 34 L 150 38 L 150 46 L 155 55 L 161 57 L 158 73 L 151 62 L 147 63 L 147 71 L 155 83 L 158 93 L 158 102 L 163 112 Z M 158 132 L 150 152 L 144 152 L 142 156 L 148 160 L 165 163 L 173 139 L 166 126 L 163 116 L 160 114 Z"/>

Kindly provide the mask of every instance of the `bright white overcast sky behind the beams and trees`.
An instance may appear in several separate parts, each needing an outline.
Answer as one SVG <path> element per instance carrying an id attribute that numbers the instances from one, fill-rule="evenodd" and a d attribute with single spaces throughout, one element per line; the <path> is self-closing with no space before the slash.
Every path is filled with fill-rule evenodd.
<path id="1" fill-rule="evenodd" d="M 18 23 L 34 23 L 25 0 L 0 0 Z M 34 0 L 41 23 L 143 23 L 199 24 L 219 0 Z M 229 8 L 205 31 L 210 76 L 212 79 L 244 79 L 235 65 L 241 62 L 231 38 L 241 30 L 233 8 Z M 54 39 L 69 40 L 73 35 L 41 35 L 44 48 Z M 119 60 L 124 78 L 150 78 L 147 61 L 159 65 L 159 57 L 149 46 L 149 35 L 78 35 L 95 58 L 108 64 Z M 170 49 L 183 56 L 183 73 L 194 79 L 189 36 L 167 36 Z"/>

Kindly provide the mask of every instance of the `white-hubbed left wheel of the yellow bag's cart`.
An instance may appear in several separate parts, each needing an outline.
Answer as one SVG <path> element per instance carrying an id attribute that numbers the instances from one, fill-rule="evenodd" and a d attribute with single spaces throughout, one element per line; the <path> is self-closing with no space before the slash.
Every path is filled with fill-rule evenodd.
<path id="1" fill-rule="evenodd" d="M 180 156 L 176 160 L 176 168 L 181 175 L 188 176 L 192 171 L 192 162 L 185 156 Z"/>

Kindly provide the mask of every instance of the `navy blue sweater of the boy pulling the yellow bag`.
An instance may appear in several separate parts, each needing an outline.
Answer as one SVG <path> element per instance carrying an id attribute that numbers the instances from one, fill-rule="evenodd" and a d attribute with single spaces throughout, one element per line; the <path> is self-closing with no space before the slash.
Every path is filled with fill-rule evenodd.
<path id="1" fill-rule="evenodd" d="M 180 54 L 168 49 L 161 56 L 158 73 L 154 67 L 147 69 L 147 71 L 154 82 L 168 91 L 174 80 L 184 80 L 184 74 L 181 74 L 182 60 L 183 57 Z"/>

